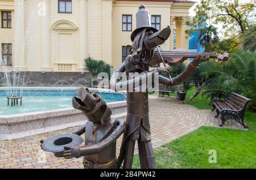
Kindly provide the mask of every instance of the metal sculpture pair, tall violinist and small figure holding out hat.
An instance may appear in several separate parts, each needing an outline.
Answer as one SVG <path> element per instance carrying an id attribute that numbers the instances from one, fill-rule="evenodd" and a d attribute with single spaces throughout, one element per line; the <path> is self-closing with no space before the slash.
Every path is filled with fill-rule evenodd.
<path id="1" fill-rule="evenodd" d="M 53 152 L 56 157 L 67 159 L 84 156 L 84 168 L 120 168 L 123 164 L 123 168 L 127 169 L 133 165 L 134 145 L 135 141 L 138 141 L 141 168 L 156 168 L 148 119 L 147 80 L 166 72 L 169 78 L 159 75 L 159 83 L 168 86 L 180 84 L 192 75 L 201 62 L 209 58 L 228 61 L 229 54 L 165 52 L 158 46 L 170 36 L 170 27 L 158 31 L 150 25 L 149 12 L 144 5 L 139 6 L 137 29 L 131 34 L 133 46 L 130 55 L 117 68 L 110 80 L 110 86 L 115 91 L 128 89 L 126 123 L 118 118 L 110 118 L 112 112 L 106 102 L 96 93 L 90 93 L 89 89 L 81 88 L 77 91 L 79 98 L 73 98 L 73 107 L 81 110 L 89 121 L 75 132 L 41 140 L 42 149 Z M 171 78 L 171 68 L 166 64 L 177 66 L 188 58 L 195 59 L 188 63 L 187 68 L 179 76 Z M 163 63 L 164 67 L 150 70 L 150 67 L 158 63 Z M 129 80 L 121 82 L 118 79 L 124 72 Z M 117 158 L 116 140 L 123 133 Z M 81 145 L 84 141 L 80 137 L 82 134 L 85 134 L 84 145 Z"/>

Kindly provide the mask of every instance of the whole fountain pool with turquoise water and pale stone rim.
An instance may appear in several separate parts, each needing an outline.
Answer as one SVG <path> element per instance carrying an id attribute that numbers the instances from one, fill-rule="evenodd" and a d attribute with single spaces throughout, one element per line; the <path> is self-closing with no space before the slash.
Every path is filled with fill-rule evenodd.
<path id="1" fill-rule="evenodd" d="M 0 88 L 0 140 L 16 139 L 67 127 L 84 125 L 87 119 L 72 107 L 73 87 L 19 87 L 22 106 L 7 106 L 6 91 Z M 125 93 L 89 88 L 106 100 L 112 118 L 126 116 Z"/>

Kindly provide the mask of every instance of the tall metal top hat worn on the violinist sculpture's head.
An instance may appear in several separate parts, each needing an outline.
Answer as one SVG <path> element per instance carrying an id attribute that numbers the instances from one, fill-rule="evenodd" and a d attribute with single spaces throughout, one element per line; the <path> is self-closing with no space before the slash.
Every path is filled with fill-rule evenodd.
<path id="1" fill-rule="evenodd" d="M 139 11 L 136 14 L 136 25 L 137 28 L 131 33 L 131 41 L 134 40 L 138 31 L 140 31 L 143 28 L 151 29 L 154 33 L 158 31 L 158 29 L 151 27 L 150 12 L 146 10 L 145 5 L 139 6 Z"/>

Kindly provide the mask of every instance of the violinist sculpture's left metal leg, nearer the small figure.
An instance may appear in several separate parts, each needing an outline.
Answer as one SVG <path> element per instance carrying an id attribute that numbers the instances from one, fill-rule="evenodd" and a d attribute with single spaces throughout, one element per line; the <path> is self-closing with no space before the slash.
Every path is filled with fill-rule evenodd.
<path id="1" fill-rule="evenodd" d="M 123 169 L 131 169 L 133 166 L 135 140 L 129 139 L 126 145 L 125 160 L 123 161 Z"/>

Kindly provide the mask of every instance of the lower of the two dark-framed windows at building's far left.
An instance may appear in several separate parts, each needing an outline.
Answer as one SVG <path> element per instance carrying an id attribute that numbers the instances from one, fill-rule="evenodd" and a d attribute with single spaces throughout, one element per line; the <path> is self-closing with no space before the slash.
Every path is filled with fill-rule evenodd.
<path id="1" fill-rule="evenodd" d="M 2 44 L 2 66 L 13 66 L 13 47 L 11 44 Z"/>

